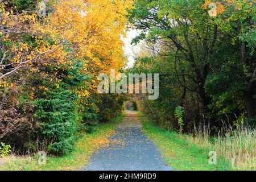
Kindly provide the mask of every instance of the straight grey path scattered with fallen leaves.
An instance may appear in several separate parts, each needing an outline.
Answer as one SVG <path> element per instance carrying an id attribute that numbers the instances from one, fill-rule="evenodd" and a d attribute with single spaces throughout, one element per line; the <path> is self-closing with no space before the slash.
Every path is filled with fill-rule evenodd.
<path id="1" fill-rule="evenodd" d="M 158 148 L 141 130 L 138 114 L 126 111 L 126 116 L 109 138 L 108 146 L 94 152 L 83 171 L 169 171 Z"/>

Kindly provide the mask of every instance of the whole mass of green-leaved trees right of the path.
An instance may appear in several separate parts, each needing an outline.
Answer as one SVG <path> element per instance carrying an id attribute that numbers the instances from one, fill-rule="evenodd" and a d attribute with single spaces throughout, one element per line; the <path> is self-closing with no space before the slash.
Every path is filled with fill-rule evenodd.
<path id="1" fill-rule="evenodd" d="M 140 30 L 133 43 L 146 41 L 154 52 L 138 57 L 132 72 L 160 73 L 159 99 L 138 100 L 139 109 L 159 125 L 179 129 L 175 107 L 184 108 L 184 131 L 209 122 L 254 121 L 255 11 L 242 4 L 225 6 L 217 17 L 205 1 L 135 2 L 129 20 Z M 252 123 L 252 122 L 250 122 Z"/>

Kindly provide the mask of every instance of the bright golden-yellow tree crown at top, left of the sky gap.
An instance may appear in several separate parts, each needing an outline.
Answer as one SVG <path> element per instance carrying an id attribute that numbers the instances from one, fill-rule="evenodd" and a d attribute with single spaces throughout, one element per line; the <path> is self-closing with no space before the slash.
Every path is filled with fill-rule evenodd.
<path id="1" fill-rule="evenodd" d="M 72 42 L 72 54 L 85 59 L 92 72 L 120 68 L 125 64 L 120 35 L 125 34 L 131 1 L 58 1 L 42 32 Z M 57 23 L 56 23 L 57 22 Z M 103 62 L 102 62 L 103 60 Z M 93 65 L 92 65 L 93 64 Z"/>

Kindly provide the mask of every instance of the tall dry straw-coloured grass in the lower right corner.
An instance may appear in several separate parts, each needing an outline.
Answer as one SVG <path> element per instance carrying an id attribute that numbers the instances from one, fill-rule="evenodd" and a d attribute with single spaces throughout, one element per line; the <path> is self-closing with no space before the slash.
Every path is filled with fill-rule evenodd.
<path id="1" fill-rule="evenodd" d="M 242 124 L 233 129 L 228 126 L 210 137 L 210 127 L 201 126 L 185 138 L 189 144 L 216 151 L 217 157 L 229 163 L 231 170 L 256 170 L 255 127 Z"/>

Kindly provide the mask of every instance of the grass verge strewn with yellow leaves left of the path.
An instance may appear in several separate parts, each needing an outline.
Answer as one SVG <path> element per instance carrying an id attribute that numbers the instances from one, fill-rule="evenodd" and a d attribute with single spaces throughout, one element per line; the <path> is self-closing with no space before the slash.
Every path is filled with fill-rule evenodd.
<path id="1" fill-rule="evenodd" d="M 2 159 L 0 170 L 26 171 L 60 171 L 81 169 L 90 159 L 90 155 L 104 144 L 108 144 L 108 137 L 113 134 L 118 122 L 123 116 L 113 119 L 112 122 L 102 123 L 92 133 L 84 133 L 76 141 L 73 152 L 64 156 L 47 156 L 47 164 L 39 165 L 38 156 L 8 156 Z M 1 164 L 0 164 L 1 165 Z"/>

